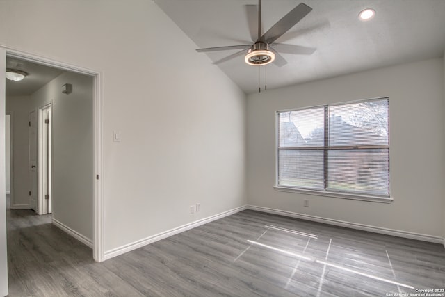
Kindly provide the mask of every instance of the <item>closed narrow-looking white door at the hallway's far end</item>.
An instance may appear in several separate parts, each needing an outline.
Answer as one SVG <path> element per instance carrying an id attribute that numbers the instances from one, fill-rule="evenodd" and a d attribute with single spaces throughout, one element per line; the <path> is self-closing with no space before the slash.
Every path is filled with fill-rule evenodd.
<path id="1" fill-rule="evenodd" d="M 37 204 L 37 111 L 29 113 L 29 202 L 38 212 Z"/>

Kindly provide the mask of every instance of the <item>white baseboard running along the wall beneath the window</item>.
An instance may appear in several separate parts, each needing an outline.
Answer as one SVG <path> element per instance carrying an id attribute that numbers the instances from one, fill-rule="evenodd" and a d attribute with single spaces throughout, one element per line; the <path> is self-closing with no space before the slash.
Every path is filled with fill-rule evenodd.
<path id="1" fill-rule="evenodd" d="M 442 237 L 439 237 L 439 236 L 419 234 L 419 233 L 414 233 L 414 232 L 406 232 L 406 231 L 388 229 L 388 228 L 383 228 L 383 227 L 375 227 L 375 226 L 371 226 L 371 225 L 350 223 L 350 222 L 346 222 L 343 220 L 334 220 L 332 218 L 321 218 L 319 216 L 311 216 L 308 214 L 298 214 L 298 213 L 291 212 L 291 211 L 283 211 L 280 209 L 271 209 L 268 207 L 257 207 L 254 205 L 248 205 L 247 208 L 255 210 L 255 211 L 266 212 L 268 214 L 278 214 L 280 216 L 289 216 L 291 218 L 300 218 L 302 220 L 312 220 L 312 221 L 318 222 L 318 223 L 325 223 L 325 224 L 329 224 L 329 225 L 347 227 L 347 228 L 356 229 L 356 230 L 363 230 L 363 231 L 369 231 L 369 232 L 374 232 L 374 233 L 398 236 L 398 237 L 403 237 L 403 238 L 407 238 L 407 239 L 416 239 L 416 240 L 428 241 L 428 242 L 432 242 L 432 243 L 442 243 L 442 241 L 443 241 L 444 247 L 445 247 L 445 239 L 442 239 Z"/>

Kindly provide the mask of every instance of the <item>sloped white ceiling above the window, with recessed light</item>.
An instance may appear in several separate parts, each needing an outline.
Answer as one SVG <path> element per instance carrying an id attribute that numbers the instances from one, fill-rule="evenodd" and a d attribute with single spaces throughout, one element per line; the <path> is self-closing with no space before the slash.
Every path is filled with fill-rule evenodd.
<path id="1" fill-rule="evenodd" d="M 188 35 L 196 48 L 252 43 L 246 5 L 257 0 L 154 0 Z M 295 0 L 263 0 L 264 31 L 298 5 Z M 245 93 L 279 88 L 341 74 L 442 57 L 445 49 L 445 0 L 305 0 L 309 15 L 277 42 L 314 47 L 311 55 L 282 54 L 287 64 L 250 66 L 244 56 L 218 63 Z M 357 15 L 373 8 L 375 17 Z M 201 53 L 209 63 L 239 50 Z M 261 68 L 261 69 L 260 69 Z M 261 81 L 261 83 L 260 83 Z"/>

